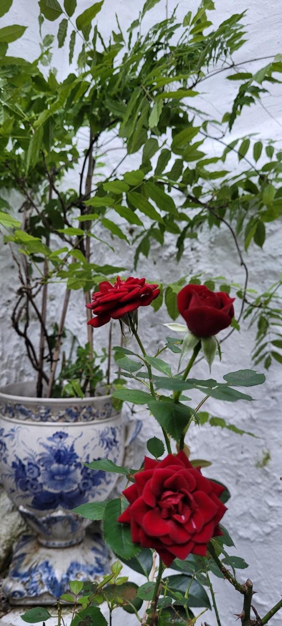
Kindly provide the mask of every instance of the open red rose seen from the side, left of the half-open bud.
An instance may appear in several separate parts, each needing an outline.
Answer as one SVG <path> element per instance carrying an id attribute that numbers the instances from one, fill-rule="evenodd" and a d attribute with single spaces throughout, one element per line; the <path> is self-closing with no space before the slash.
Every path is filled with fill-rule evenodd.
<path id="1" fill-rule="evenodd" d="M 138 307 L 146 307 L 158 297 L 160 290 L 158 285 L 149 285 L 145 278 L 133 278 L 121 280 L 117 277 L 117 282 L 113 285 L 107 280 L 100 282 L 99 289 L 92 294 L 91 304 L 86 304 L 88 309 L 93 310 L 97 317 L 93 317 L 88 324 L 98 328 L 107 324 L 111 317 L 121 319 L 125 314 L 130 313 Z"/>

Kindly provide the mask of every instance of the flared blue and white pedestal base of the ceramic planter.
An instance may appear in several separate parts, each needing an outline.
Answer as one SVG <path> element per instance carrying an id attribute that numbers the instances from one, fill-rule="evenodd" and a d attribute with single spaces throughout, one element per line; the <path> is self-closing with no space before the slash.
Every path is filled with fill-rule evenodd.
<path id="1" fill-rule="evenodd" d="M 52 605 L 70 593 L 70 580 L 93 581 L 108 572 L 109 554 L 100 535 L 68 548 L 46 548 L 23 535 L 14 549 L 3 591 L 11 605 Z"/>

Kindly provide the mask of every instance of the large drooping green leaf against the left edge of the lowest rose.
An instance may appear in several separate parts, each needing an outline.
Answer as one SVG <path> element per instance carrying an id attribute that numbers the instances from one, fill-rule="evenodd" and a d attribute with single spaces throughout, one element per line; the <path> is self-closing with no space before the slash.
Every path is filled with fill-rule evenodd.
<path id="1" fill-rule="evenodd" d="M 122 496 L 110 500 L 105 508 L 103 521 L 104 538 L 111 550 L 122 558 L 132 558 L 140 552 L 140 546 L 132 543 L 130 527 L 117 521 L 127 508 L 128 502 Z"/>

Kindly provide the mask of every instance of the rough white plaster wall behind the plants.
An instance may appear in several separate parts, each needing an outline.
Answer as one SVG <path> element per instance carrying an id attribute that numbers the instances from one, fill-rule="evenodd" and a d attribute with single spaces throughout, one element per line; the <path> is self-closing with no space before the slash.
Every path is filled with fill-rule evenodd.
<path id="1" fill-rule="evenodd" d="M 89 0 L 78 0 L 81 11 L 89 6 Z M 114 28 L 115 11 L 118 13 L 122 28 L 127 26 L 137 15 L 142 6 L 141 0 L 130 2 L 129 0 L 105 0 L 103 10 L 99 17 L 99 27 L 103 36 L 110 33 Z M 175 7 L 176 1 L 169 0 L 169 13 Z M 196 7 L 196 1 L 186 2 L 180 0 L 179 13 L 184 15 L 189 9 Z M 248 8 L 245 18 L 248 24 L 249 41 L 243 50 L 236 55 L 236 61 L 243 63 L 251 58 L 265 56 L 279 52 L 281 43 L 281 0 L 217 0 L 216 13 L 212 19 L 216 23 L 226 19 L 231 13 L 239 13 Z M 148 14 L 147 23 L 153 23 L 155 19 L 165 17 L 165 2 L 160 3 Z M 14 0 L 13 8 L 8 16 L 1 20 L 1 26 L 6 23 L 26 24 L 29 28 L 23 38 L 11 44 L 11 54 L 26 56 L 33 59 L 39 52 L 38 43 L 38 4 L 36 0 Z M 48 28 L 56 34 L 58 23 L 48 23 Z M 46 29 L 46 26 L 45 26 Z M 281 51 L 281 49 L 280 49 Z M 63 51 L 55 54 L 55 64 L 59 67 L 60 77 L 66 75 L 68 68 L 68 52 Z M 253 63 L 255 69 L 259 65 Z M 244 65 L 243 65 L 244 67 Z M 220 119 L 232 101 L 233 86 L 229 81 L 224 83 L 224 74 L 219 74 L 214 79 L 203 83 L 200 91 L 201 98 L 197 105 L 205 108 L 215 118 Z M 269 137 L 276 139 L 281 145 L 281 89 L 271 87 L 272 96 L 264 95 L 263 105 L 257 105 L 244 111 L 236 123 L 232 138 L 244 135 L 244 133 L 256 133 L 264 140 Z M 196 106 L 197 106 L 196 105 Z M 266 108 L 268 113 L 266 112 Z M 80 133 L 80 141 L 86 146 L 86 134 Z M 209 146 L 211 155 L 218 153 L 218 146 L 211 141 Z M 114 151 L 110 158 L 106 157 L 108 171 L 110 172 L 120 158 L 120 152 Z M 105 159 L 104 159 L 105 160 Z M 133 155 L 125 162 L 124 167 L 134 168 L 138 166 L 139 157 Z M 237 167 L 234 160 L 234 168 Z M 14 195 L 14 205 L 18 207 L 19 198 Z M 118 240 L 115 241 L 116 252 L 113 254 L 108 249 L 100 247 L 97 262 L 112 262 L 115 265 L 127 265 L 128 271 L 132 272 L 133 250 L 128 250 Z M 9 313 L 16 288 L 15 269 L 8 250 L 3 247 L 0 250 L 1 267 L 1 379 L 3 384 L 19 381 L 31 376 L 31 371 L 26 363 L 24 346 L 11 331 Z M 281 257 L 281 229 L 277 225 L 268 225 L 268 238 L 263 252 L 251 245 L 246 255 L 250 284 L 263 290 L 271 282 L 277 280 L 279 272 L 279 259 Z M 179 275 L 206 272 L 207 276 L 225 275 L 227 279 L 236 282 L 243 281 L 243 272 L 238 264 L 236 251 L 224 228 L 212 233 L 203 232 L 199 241 L 187 240 L 185 254 L 177 265 L 174 262 L 174 240 L 167 237 L 164 248 L 159 249 L 152 245 L 150 259 L 140 259 L 138 275 L 145 275 L 149 279 L 162 279 L 171 282 Z M 58 319 L 60 305 L 63 299 L 64 287 L 56 286 L 52 289 L 52 301 L 50 303 L 50 316 L 53 321 Z M 239 303 L 236 304 L 238 312 Z M 160 310 L 157 316 L 148 308 L 140 315 L 142 323 L 140 331 L 144 338 L 145 346 L 154 354 L 162 337 L 165 336 L 162 322 L 169 321 L 165 310 Z M 86 341 L 85 311 L 83 301 L 77 292 L 71 295 L 70 310 L 68 314 L 68 327 L 80 336 L 81 342 Z M 222 362 L 213 366 L 212 376 L 220 377 L 227 371 L 234 371 L 242 367 L 250 367 L 250 352 L 253 346 L 253 331 L 249 331 L 243 325 L 241 333 L 233 334 L 231 339 L 224 344 Z M 36 333 L 34 339 L 37 341 Z M 117 342 L 119 330 L 117 325 Z M 106 344 L 107 333 L 105 329 L 95 332 L 95 342 L 98 347 Z M 195 376 L 206 377 L 207 366 L 203 362 L 195 370 Z M 222 416 L 231 423 L 253 431 L 258 439 L 246 435 L 240 437 L 230 431 L 204 426 L 199 429 L 195 426 L 191 429 L 189 445 L 194 458 L 206 458 L 212 461 L 211 468 L 206 469 L 205 474 L 213 478 L 219 478 L 226 483 L 231 491 L 229 510 L 224 518 L 224 523 L 229 529 L 236 550 L 231 553 L 241 555 L 249 563 L 248 575 L 252 578 L 254 589 L 258 592 L 254 597 L 254 603 L 261 615 L 273 603 L 277 602 L 282 593 L 282 485 L 279 477 L 282 475 L 282 427 L 281 427 L 281 368 L 273 367 L 267 376 L 267 382 L 263 387 L 257 387 L 253 391 L 254 398 L 259 402 L 254 403 L 219 403 L 210 401 L 207 409 L 216 416 Z M 196 401 L 197 398 L 195 398 Z M 159 434 L 159 428 L 145 411 L 137 411 L 135 417 L 142 418 L 144 427 L 139 440 L 135 444 L 137 456 L 144 449 L 144 442 L 152 434 Z M 256 463 L 261 461 L 263 452 L 269 450 L 271 460 L 264 468 L 257 468 Z M 244 577 L 244 572 L 239 577 Z M 136 575 L 137 577 L 137 575 Z M 140 578 L 140 577 L 139 577 Z M 214 587 L 217 592 L 216 598 L 219 611 L 222 615 L 222 626 L 231 626 L 234 623 L 234 613 L 241 610 L 241 598 L 227 582 L 214 579 Z M 214 616 L 206 614 L 204 618 L 210 626 L 216 626 Z M 118 626 L 124 622 L 125 613 L 118 616 Z M 129 623 L 134 623 L 135 618 L 126 616 Z M 273 625 L 281 624 L 281 615 L 273 618 Z"/>

